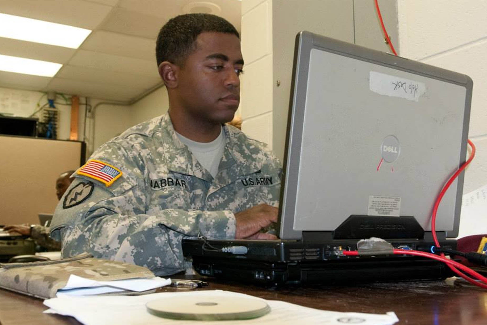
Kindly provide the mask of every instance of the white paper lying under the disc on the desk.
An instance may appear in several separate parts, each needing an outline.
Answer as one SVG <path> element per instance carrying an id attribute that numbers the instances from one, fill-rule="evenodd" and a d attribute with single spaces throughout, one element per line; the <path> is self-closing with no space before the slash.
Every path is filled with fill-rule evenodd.
<path id="1" fill-rule="evenodd" d="M 56 313 L 73 316 L 79 322 L 87 325 L 131 324 L 131 325 L 188 325 L 188 324 L 214 324 L 215 322 L 170 320 L 151 315 L 146 308 L 149 301 L 165 298 L 168 295 L 194 296 L 244 296 L 242 293 L 222 290 L 186 291 L 186 292 L 161 292 L 142 296 L 87 296 L 87 297 L 63 297 L 52 298 L 44 301 L 44 305 L 50 307 Z M 254 297 L 255 298 L 255 297 Z M 260 299 L 260 298 L 255 298 Z M 218 325 L 274 325 L 274 324 L 326 324 L 343 325 L 392 325 L 398 321 L 393 312 L 387 314 L 366 314 L 354 312 L 335 312 L 302 307 L 282 301 L 266 300 L 271 307 L 271 312 L 259 318 L 243 321 L 218 321 Z"/>

